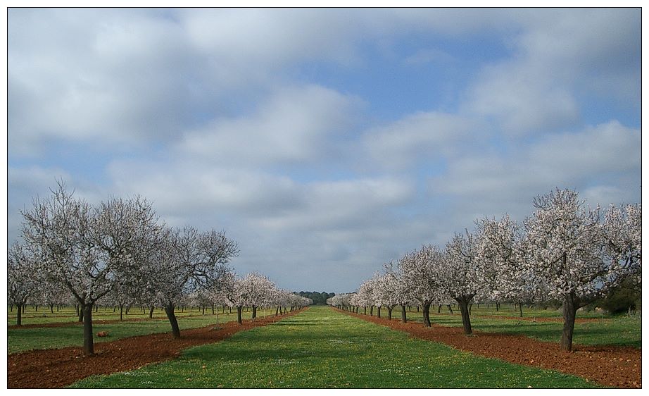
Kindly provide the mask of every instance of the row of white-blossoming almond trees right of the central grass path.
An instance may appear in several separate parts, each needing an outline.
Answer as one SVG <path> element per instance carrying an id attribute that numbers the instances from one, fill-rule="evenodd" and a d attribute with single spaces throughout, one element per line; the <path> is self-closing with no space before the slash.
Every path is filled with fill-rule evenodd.
<path id="1" fill-rule="evenodd" d="M 641 286 L 641 204 L 591 209 L 574 190 L 534 199 L 534 214 L 522 224 L 509 216 L 482 218 L 472 232 L 455 236 L 444 249 L 424 245 L 404 254 L 358 291 L 336 295 L 339 307 L 422 307 L 430 326 L 431 304 L 457 302 L 462 326 L 472 333 L 470 304 L 522 304 L 559 300 L 564 325 L 561 349 L 572 350 L 576 311 L 622 283 Z M 370 311 L 370 314 L 372 312 Z"/>

